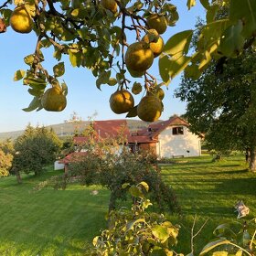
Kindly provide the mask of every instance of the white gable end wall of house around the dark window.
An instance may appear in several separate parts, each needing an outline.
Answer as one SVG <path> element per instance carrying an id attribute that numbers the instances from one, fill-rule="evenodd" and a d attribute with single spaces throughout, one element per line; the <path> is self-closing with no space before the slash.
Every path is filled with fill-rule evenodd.
<path id="1" fill-rule="evenodd" d="M 186 126 L 183 126 L 183 134 L 173 134 L 173 127 L 169 126 L 158 135 L 158 144 L 156 153 L 159 158 L 171 158 L 176 156 L 198 156 L 201 155 L 200 140 L 194 133 L 189 132 Z"/>

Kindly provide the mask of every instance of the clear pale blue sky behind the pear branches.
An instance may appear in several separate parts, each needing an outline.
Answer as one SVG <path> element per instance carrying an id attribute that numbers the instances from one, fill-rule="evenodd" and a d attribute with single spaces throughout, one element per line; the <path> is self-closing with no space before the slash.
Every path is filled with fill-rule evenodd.
<path id="1" fill-rule="evenodd" d="M 163 36 L 165 41 L 179 31 L 193 29 L 197 17 L 204 16 L 203 7 L 200 3 L 197 3 L 189 11 L 187 10 L 187 0 L 175 0 L 172 1 L 172 4 L 177 6 L 180 19 L 176 23 L 176 27 L 168 27 Z M 133 38 L 129 39 L 133 40 Z M 99 91 L 95 85 L 96 79 L 91 71 L 85 68 L 73 68 L 68 57 L 61 59 L 65 61 L 66 68 L 66 72 L 61 79 L 65 80 L 69 87 L 66 109 L 62 112 L 22 111 L 23 108 L 29 105 L 33 96 L 27 92 L 28 88 L 23 85 L 22 80 L 13 80 L 14 73 L 17 69 L 27 69 L 23 59 L 34 52 L 36 43 L 37 37 L 34 32 L 23 35 L 14 32 L 11 27 L 7 27 L 7 32 L 0 34 L 0 133 L 23 130 L 28 123 L 32 125 L 63 123 L 70 119 L 73 112 L 76 112 L 83 121 L 88 120 L 95 112 L 97 112 L 96 120 L 125 118 L 126 114 L 117 115 L 111 111 L 109 106 L 109 98 L 116 91 L 116 87 L 101 85 L 101 91 Z M 43 65 L 51 72 L 52 67 L 57 64 L 57 60 L 52 58 L 53 49 L 44 53 L 46 60 Z M 150 72 L 157 79 L 160 79 L 158 59 L 155 59 Z M 166 120 L 173 114 L 186 112 L 186 102 L 181 102 L 174 97 L 174 91 L 179 85 L 180 77 L 179 75 L 172 80 L 168 89 L 164 88 L 165 110 L 160 117 L 161 120 Z M 141 98 L 141 94 L 135 96 L 135 104 Z"/>

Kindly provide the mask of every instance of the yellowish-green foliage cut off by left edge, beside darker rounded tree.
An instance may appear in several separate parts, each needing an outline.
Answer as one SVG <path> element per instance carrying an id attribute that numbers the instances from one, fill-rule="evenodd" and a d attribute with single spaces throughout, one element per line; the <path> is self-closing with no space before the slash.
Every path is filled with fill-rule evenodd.
<path id="1" fill-rule="evenodd" d="M 11 140 L 0 143 L 0 176 L 8 176 L 12 166 L 14 146 Z"/>

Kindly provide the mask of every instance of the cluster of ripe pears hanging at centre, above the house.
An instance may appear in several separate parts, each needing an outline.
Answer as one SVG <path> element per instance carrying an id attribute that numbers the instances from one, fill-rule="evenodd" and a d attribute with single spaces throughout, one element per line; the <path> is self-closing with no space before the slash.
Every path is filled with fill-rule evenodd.
<path id="1" fill-rule="evenodd" d="M 156 57 L 164 48 L 164 40 L 160 36 L 165 33 L 167 22 L 165 16 L 151 14 L 147 17 L 148 30 L 142 40 L 131 44 L 125 53 L 126 67 L 134 78 L 144 76 Z M 136 85 L 136 83 L 135 83 Z M 134 86 L 133 86 L 134 87 Z M 132 89 L 133 94 L 142 90 Z M 155 122 L 163 111 L 165 92 L 160 87 L 151 88 L 136 106 L 138 117 L 145 122 Z M 134 108 L 133 95 L 127 90 L 115 91 L 110 98 L 112 112 L 125 113 Z"/>

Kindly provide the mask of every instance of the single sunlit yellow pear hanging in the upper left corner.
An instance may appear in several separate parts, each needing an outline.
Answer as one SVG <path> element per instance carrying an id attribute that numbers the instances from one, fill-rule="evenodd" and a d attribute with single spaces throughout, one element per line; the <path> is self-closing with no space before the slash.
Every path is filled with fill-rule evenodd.
<path id="1" fill-rule="evenodd" d="M 32 31 L 33 19 L 28 5 L 17 5 L 10 16 L 10 26 L 18 33 L 27 34 Z"/>

